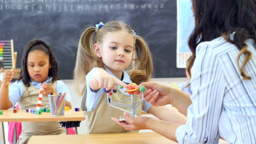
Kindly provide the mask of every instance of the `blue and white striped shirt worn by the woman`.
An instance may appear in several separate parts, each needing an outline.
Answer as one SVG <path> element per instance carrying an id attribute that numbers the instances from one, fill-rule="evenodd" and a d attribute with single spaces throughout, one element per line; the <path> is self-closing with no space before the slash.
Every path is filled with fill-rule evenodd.
<path id="1" fill-rule="evenodd" d="M 219 37 L 196 48 L 191 69 L 191 101 L 187 123 L 176 130 L 181 144 L 256 144 L 256 45 L 246 40 L 252 59 L 243 80 L 236 58 L 240 50 Z M 240 56 L 240 67 L 244 55 Z"/>

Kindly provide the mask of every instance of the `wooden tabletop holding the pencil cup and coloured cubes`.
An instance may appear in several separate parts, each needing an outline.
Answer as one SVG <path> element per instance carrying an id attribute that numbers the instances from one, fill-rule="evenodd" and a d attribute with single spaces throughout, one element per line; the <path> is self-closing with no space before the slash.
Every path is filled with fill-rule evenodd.
<path id="1" fill-rule="evenodd" d="M 43 112 L 42 114 L 27 113 L 26 110 L 1 110 L 0 122 L 55 122 L 55 121 L 82 121 L 85 120 L 81 111 L 67 110 L 64 116 L 51 116 L 51 113 Z"/>

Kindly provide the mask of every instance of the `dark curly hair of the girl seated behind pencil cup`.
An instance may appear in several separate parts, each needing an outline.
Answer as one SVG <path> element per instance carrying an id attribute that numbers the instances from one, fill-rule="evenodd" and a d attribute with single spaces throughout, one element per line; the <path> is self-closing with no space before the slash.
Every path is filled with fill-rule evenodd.
<path id="1" fill-rule="evenodd" d="M 32 52 L 34 50 L 41 50 L 43 52 L 46 53 L 46 55 L 49 56 L 49 62 L 50 65 L 52 66 L 49 69 L 49 73 L 48 76 L 52 77 L 52 82 L 54 82 L 55 80 L 58 80 L 58 65 L 57 65 L 57 61 L 55 59 L 55 56 L 51 50 L 51 48 L 42 40 L 31 40 L 28 45 L 26 46 L 23 56 L 22 56 L 22 64 L 21 64 L 21 74 L 19 75 L 19 79 L 18 80 L 22 80 L 22 82 L 24 83 L 24 85 L 26 87 L 30 86 L 30 76 L 28 74 L 28 70 L 27 70 L 27 58 L 28 58 L 28 53 Z"/>

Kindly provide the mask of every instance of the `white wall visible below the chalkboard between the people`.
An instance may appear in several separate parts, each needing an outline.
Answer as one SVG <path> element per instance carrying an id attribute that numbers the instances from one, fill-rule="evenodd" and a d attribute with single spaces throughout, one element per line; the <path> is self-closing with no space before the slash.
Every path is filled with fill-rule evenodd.
<path id="1" fill-rule="evenodd" d="M 184 82 L 187 82 L 188 79 L 187 78 L 154 78 L 151 79 L 154 82 L 158 82 L 158 83 L 162 83 L 168 86 L 171 86 L 169 84 L 169 82 L 172 82 L 174 85 L 179 86 Z M 71 94 L 71 98 L 72 98 L 72 108 L 77 108 L 80 107 L 81 104 L 81 100 L 82 97 L 78 96 L 74 90 L 74 81 L 73 80 L 63 80 L 63 82 L 67 85 L 68 90 L 70 91 Z M 0 127 L 1 128 L 1 127 Z M 4 133 L 5 133 L 5 140 L 6 140 L 6 144 L 9 144 L 9 142 L 7 142 L 7 134 L 8 134 L 8 129 L 7 126 L 5 126 L 4 128 Z M 86 125 L 85 125 L 85 121 L 82 121 L 80 123 L 80 127 L 77 128 L 78 134 L 86 134 Z M 2 138 L 2 134 L 3 132 L 0 129 L 0 144 L 1 144 L 1 138 Z"/>

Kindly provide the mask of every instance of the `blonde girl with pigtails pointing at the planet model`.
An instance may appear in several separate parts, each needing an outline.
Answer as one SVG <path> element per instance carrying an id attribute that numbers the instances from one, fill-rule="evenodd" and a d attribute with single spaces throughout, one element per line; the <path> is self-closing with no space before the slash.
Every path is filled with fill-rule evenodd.
<path id="1" fill-rule="evenodd" d="M 86 28 L 79 40 L 74 80 L 77 93 L 83 95 L 81 109 L 85 115 L 87 133 L 136 132 L 127 131 L 112 121 L 111 117 L 118 118 L 123 111 L 107 105 L 103 88 L 106 91 L 116 89 L 119 99 L 127 99 L 126 93 L 122 93 L 127 85 L 149 81 L 152 71 L 149 46 L 129 25 L 110 21 Z M 124 88 L 120 89 L 120 86 Z M 135 101 L 139 100 L 135 96 Z M 113 96 L 112 101 L 118 99 Z M 143 102 L 137 108 L 136 115 L 141 115 L 142 110 L 161 120 L 175 117 L 173 121 L 183 119 L 179 123 L 186 123 L 185 116 L 170 107 L 153 107 L 149 102 Z M 159 111 L 162 111 L 161 114 Z"/>

